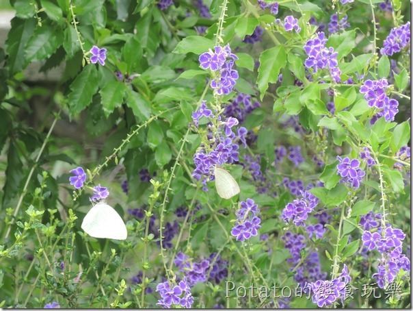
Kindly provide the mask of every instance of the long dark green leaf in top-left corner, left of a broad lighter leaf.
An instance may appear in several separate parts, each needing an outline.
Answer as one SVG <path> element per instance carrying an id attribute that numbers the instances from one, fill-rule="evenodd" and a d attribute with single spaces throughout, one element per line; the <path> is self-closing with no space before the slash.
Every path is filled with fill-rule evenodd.
<path id="1" fill-rule="evenodd" d="M 5 50 L 8 53 L 7 65 L 10 75 L 15 75 L 25 66 L 25 45 L 29 38 L 32 38 L 36 27 L 34 18 L 25 21 L 14 17 L 12 28 L 5 41 Z"/>

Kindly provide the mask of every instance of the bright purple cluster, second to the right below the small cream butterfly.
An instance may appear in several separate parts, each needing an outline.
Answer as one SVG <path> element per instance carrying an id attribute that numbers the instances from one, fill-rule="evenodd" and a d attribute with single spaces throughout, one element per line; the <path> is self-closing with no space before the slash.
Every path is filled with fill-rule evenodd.
<path id="1" fill-rule="evenodd" d="M 285 206 L 281 218 L 285 223 L 292 221 L 296 226 L 306 227 L 304 221 L 308 219 L 308 214 L 314 210 L 319 201 L 311 192 L 304 191 L 300 199 L 295 199 L 293 203 Z"/>

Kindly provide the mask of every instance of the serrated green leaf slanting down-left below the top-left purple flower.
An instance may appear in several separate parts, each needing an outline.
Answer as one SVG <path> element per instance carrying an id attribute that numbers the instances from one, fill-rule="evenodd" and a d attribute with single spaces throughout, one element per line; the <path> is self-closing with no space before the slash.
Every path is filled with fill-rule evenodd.
<path id="1" fill-rule="evenodd" d="M 97 79 L 96 66 L 88 64 L 70 84 L 69 88 L 72 90 L 68 95 L 70 114 L 77 114 L 90 105 L 93 95 L 98 91 Z"/>

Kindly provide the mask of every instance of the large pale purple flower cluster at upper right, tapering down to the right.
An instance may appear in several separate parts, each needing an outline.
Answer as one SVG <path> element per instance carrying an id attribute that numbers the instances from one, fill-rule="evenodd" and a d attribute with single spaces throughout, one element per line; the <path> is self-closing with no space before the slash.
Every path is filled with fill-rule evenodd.
<path id="1" fill-rule="evenodd" d="M 335 82 L 341 82 L 341 71 L 337 65 L 337 52 L 334 52 L 332 47 L 325 47 L 327 39 L 323 32 L 317 34 L 317 38 L 310 39 L 304 45 L 304 51 L 308 58 L 304 62 L 307 69 L 312 68 L 313 73 L 317 73 L 319 69 L 329 69 L 330 75 Z"/>

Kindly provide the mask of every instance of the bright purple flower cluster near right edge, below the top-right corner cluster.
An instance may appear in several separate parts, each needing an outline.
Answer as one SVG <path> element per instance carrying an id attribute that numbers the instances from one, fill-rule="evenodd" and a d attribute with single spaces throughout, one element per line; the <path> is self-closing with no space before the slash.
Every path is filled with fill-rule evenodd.
<path id="1" fill-rule="evenodd" d="M 393 121 L 395 115 L 399 112 L 399 102 L 395 99 L 390 99 L 390 97 L 386 95 L 386 89 L 389 87 L 386 78 L 375 81 L 367 80 L 360 87 L 360 92 L 364 94 L 367 105 L 371 108 L 379 109 L 379 112 L 371 119 L 372 124 L 382 116 L 384 116 L 387 122 Z"/>

